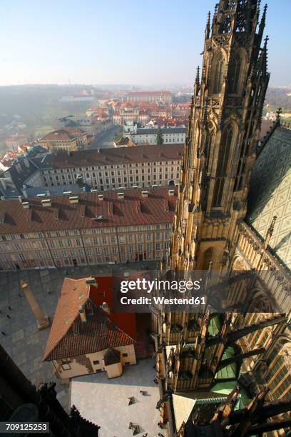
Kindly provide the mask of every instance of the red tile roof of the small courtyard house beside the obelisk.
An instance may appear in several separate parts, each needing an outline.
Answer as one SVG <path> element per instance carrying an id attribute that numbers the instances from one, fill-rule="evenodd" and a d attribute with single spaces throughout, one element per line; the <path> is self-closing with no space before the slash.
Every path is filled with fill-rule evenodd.
<path id="1" fill-rule="evenodd" d="M 96 277 L 96 285 L 86 283 L 87 279 L 92 278 L 64 279 L 44 361 L 135 343 L 135 314 L 107 314 L 100 308 L 103 302 L 111 308 L 112 277 Z M 80 306 L 86 308 L 86 322 L 81 321 Z"/>

